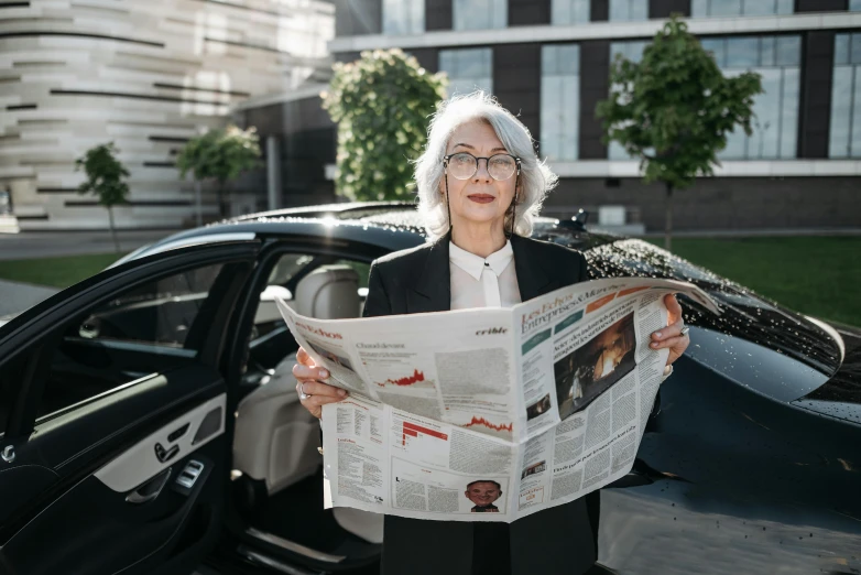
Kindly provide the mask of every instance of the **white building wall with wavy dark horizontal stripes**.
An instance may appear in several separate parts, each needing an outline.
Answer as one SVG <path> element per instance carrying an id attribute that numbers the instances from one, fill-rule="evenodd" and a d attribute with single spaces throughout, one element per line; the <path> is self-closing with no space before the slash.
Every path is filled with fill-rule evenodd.
<path id="1" fill-rule="evenodd" d="M 193 221 L 193 185 L 171 165 L 184 140 L 327 69 L 334 25 L 334 7 L 308 0 L 0 4 L 0 185 L 21 227 L 107 227 L 103 208 L 74 206 L 91 200 L 74 161 L 109 141 L 131 172 L 120 227 Z"/>

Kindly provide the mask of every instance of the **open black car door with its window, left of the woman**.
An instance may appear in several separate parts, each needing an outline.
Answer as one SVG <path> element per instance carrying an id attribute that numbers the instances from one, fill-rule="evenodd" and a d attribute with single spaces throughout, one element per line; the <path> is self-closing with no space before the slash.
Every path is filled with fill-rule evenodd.
<path id="1" fill-rule="evenodd" d="M 132 260 L 0 327 L 0 572 L 189 573 L 215 545 L 249 236 Z"/>

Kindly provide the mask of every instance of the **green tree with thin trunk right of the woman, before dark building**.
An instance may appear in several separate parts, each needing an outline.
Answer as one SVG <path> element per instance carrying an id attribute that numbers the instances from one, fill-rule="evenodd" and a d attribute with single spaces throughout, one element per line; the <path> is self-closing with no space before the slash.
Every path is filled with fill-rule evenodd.
<path id="1" fill-rule="evenodd" d="M 644 183 L 664 183 L 664 245 L 671 249 L 673 191 L 689 187 L 698 175 L 713 174 L 712 166 L 720 165 L 717 153 L 737 126 L 753 133 L 760 75 L 724 78 L 712 54 L 673 14 L 641 62 L 617 55 L 610 83 L 610 97 L 596 109 L 603 119 L 603 141 L 619 142 L 640 160 Z"/>

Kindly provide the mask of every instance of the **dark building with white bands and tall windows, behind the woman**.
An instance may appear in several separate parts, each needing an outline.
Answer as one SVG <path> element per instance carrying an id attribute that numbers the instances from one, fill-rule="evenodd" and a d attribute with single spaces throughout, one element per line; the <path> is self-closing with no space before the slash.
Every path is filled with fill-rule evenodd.
<path id="1" fill-rule="evenodd" d="M 664 191 L 637 163 L 601 142 L 597 102 L 614 54 L 639 58 L 672 13 L 715 53 L 726 74 L 753 69 L 754 133 L 733 133 L 713 177 L 675 196 L 679 230 L 861 227 L 861 0 L 336 0 L 334 57 L 401 47 L 445 70 L 449 94 L 483 88 L 520 117 L 560 175 L 545 215 L 579 208 L 607 223 L 663 229 Z M 270 117 L 299 102 L 273 105 Z M 312 105 L 310 108 L 314 106 Z M 280 109 L 279 109 L 280 108 Z M 274 115 L 274 116 L 273 116 Z M 281 115 L 281 116 L 279 116 Z M 292 116 L 304 121 L 306 115 Z M 254 123 L 248 115 L 248 120 Z M 264 113 L 264 117 L 266 115 Z M 325 117 L 309 134 L 328 155 L 303 163 L 303 182 L 328 194 L 334 135 Z M 329 128 L 331 129 L 331 128 Z M 304 134 L 304 135 L 302 135 Z M 316 197 L 316 196 L 315 196 Z"/>

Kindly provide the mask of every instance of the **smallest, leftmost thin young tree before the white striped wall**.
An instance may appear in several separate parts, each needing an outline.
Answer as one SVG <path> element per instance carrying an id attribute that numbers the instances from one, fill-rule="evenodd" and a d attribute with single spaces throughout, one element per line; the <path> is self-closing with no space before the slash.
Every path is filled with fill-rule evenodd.
<path id="1" fill-rule="evenodd" d="M 123 181 L 129 177 L 129 171 L 117 160 L 118 153 L 120 151 L 110 142 L 90 148 L 84 156 L 75 160 L 75 171 L 83 167 L 87 174 L 87 180 L 78 186 L 78 194 L 95 194 L 99 205 L 108 209 L 110 235 L 117 253 L 120 242 L 113 224 L 113 206 L 126 204 L 129 196 L 129 184 Z"/>

